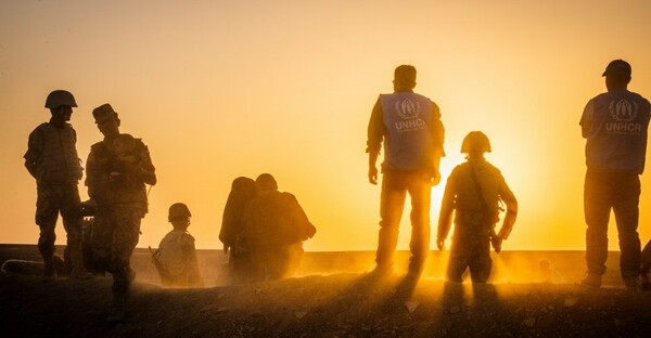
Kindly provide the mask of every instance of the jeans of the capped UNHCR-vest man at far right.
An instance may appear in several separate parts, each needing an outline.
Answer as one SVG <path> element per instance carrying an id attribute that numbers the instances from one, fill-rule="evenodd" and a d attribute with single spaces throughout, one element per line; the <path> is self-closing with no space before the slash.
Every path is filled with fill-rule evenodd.
<path id="1" fill-rule="evenodd" d="M 586 263 L 588 273 L 605 273 L 608 223 L 615 213 L 620 239 L 620 272 L 623 278 L 640 273 L 639 219 L 640 179 L 636 173 L 595 172 L 588 169 L 584 186 Z"/>

